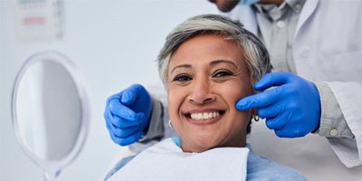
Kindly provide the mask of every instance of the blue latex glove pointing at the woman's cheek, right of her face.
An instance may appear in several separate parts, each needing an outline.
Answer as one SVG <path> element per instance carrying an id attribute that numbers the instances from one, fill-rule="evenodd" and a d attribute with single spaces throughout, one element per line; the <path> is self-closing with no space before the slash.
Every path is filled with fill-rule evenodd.
<path id="1" fill-rule="evenodd" d="M 236 109 L 256 108 L 278 137 L 304 137 L 319 128 L 320 99 L 314 83 L 289 72 L 274 72 L 265 74 L 253 87 L 265 91 L 239 100 Z"/>

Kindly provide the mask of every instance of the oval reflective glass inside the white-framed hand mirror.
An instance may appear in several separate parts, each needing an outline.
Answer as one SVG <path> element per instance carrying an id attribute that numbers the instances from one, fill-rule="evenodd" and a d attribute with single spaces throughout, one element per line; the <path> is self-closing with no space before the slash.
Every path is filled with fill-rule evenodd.
<path id="1" fill-rule="evenodd" d="M 71 76 L 57 62 L 36 62 L 19 84 L 16 110 L 24 144 L 36 157 L 60 160 L 81 128 L 81 100 Z"/>

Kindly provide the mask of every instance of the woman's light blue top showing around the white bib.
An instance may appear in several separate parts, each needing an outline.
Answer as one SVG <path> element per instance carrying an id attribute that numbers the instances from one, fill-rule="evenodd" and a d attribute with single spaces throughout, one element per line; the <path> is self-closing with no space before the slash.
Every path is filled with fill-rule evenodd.
<path id="1" fill-rule="evenodd" d="M 173 138 L 175 144 L 180 147 L 181 139 Z M 273 162 L 267 158 L 260 157 L 252 152 L 252 147 L 247 145 L 247 148 L 250 149 L 248 160 L 247 160 L 247 175 L 246 180 L 258 180 L 258 181 L 267 181 L 267 180 L 307 180 L 304 176 L 300 175 L 300 173 L 291 167 L 281 166 L 276 162 Z M 106 176 L 104 180 L 107 180 L 115 174 L 120 168 L 126 166 L 129 161 L 136 156 L 130 156 L 122 158 L 115 167 L 113 167 L 109 174 Z M 162 170 L 160 170 L 162 171 Z"/>

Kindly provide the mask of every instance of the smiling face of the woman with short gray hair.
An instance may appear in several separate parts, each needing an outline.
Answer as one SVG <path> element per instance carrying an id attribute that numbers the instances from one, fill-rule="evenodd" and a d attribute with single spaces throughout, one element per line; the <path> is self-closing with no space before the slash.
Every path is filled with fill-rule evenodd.
<path id="1" fill-rule="evenodd" d="M 215 35 L 182 43 L 168 67 L 168 113 L 186 152 L 243 147 L 251 112 L 235 109 L 252 92 L 243 50 Z"/>

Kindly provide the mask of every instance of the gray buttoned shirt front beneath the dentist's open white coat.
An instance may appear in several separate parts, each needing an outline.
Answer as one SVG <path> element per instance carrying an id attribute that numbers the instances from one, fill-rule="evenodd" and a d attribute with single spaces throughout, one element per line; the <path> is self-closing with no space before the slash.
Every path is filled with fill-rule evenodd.
<path id="1" fill-rule="evenodd" d="M 292 43 L 300 10 L 305 0 L 286 0 L 277 5 L 253 5 L 259 25 L 259 38 L 271 55 L 273 71 L 296 72 Z"/>

